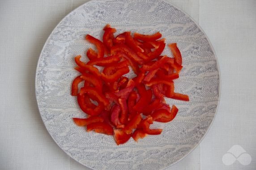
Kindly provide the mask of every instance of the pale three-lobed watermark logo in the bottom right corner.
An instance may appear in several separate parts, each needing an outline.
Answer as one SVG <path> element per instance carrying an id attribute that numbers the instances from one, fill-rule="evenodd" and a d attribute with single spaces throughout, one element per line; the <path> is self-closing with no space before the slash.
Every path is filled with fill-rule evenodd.
<path id="1" fill-rule="evenodd" d="M 252 157 L 246 153 L 246 151 L 240 145 L 232 146 L 227 153 L 222 157 L 222 162 L 229 166 L 238 161 L 240 164 L 246 166 L 249 165 L 252 161 Z"/>

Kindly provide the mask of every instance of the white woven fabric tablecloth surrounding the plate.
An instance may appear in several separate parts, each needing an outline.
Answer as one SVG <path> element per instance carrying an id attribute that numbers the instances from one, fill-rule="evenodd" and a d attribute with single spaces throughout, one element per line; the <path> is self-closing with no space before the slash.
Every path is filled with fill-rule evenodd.
<path id="1" fill-rule="evenodd" d="M 89 170 L 51 139 L 38 112 L 39 54 L 58 22 L 88 0 L 0 0 L 0 170 Z M 256 170 L 256 0 L 170 0 L 201 25 L 218 57 L 222 90 L 209 133 L 168 170 Z M 251 164 L 222 163 L 241 145 Z"/>

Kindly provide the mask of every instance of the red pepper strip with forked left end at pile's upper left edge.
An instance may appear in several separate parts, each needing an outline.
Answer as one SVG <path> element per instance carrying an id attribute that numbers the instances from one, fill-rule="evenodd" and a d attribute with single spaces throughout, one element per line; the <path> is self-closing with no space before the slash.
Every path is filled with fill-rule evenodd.
<path id="1" fill-rule="evenodd" d="M 96 67 L 90 66 L 85 64 L 84 62 L 81 62 L 80 58 L 81 58 L 81 55 L 78 55 L 77 57 L 75 57 L 75 62 L 77 63 L 78 66 L 81 67 L 79 69 L 75 67 L 76 70 L 78 70 L 81 73 L 85 73 L 86 71 L 89 71 L 91 74 L 100 77 L 100 73 Z"/>

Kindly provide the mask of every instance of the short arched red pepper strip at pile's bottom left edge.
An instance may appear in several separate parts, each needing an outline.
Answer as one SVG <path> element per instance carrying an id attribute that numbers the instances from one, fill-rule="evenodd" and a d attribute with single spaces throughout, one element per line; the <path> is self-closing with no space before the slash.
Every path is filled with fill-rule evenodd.
<path id="1" fill-rule="evenodd" d="M 106 135 L 113 135 L 113 128 L 110 124 L 104 122 L 96 122 L 87 125 L 87 132 L 94 130 L 97 133 L 104 133 Z"/>

